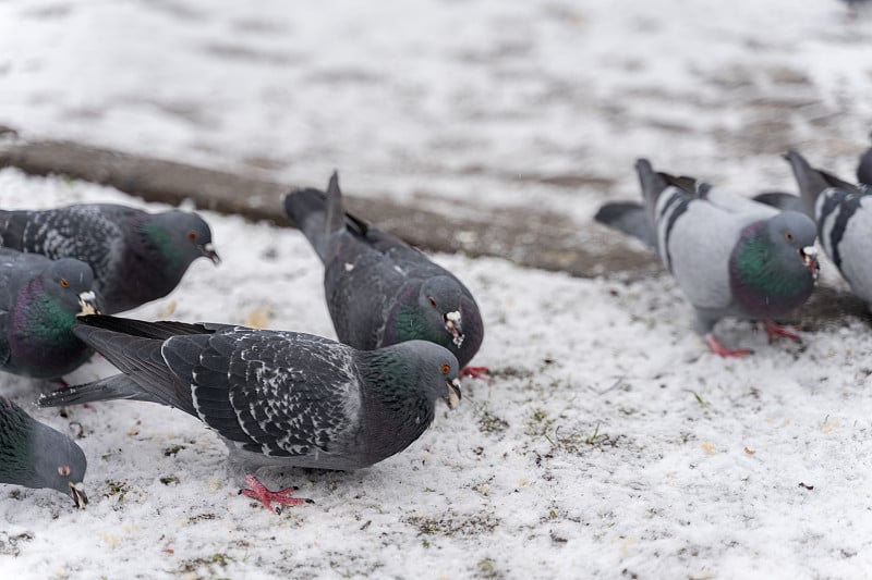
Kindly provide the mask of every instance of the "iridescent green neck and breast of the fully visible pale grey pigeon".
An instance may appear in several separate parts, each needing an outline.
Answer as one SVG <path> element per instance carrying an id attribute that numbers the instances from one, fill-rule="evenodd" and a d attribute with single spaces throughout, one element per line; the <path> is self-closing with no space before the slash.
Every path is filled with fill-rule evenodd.
<path id="1" fill-rule="evenodd" d="M 765 222 L 742 230 L 729 259 L 730 286 L 736 301 L 751 316 L 770 318 L 788 312 L 811 294 L 814 280 L 797 256 L 786 254 L 770 239 Z"/>

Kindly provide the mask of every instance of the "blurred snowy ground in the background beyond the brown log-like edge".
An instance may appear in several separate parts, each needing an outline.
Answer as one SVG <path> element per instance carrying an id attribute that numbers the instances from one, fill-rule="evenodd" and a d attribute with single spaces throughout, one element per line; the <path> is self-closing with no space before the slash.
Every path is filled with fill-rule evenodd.
<path id="1" fill-rule="evenodd" d="M 794 190 L 788 147 L 852 176 L 870 40 L 837 0 L 2 0 L 0 125 L 585 224 L 640 156 L 746 195 Z"/>

